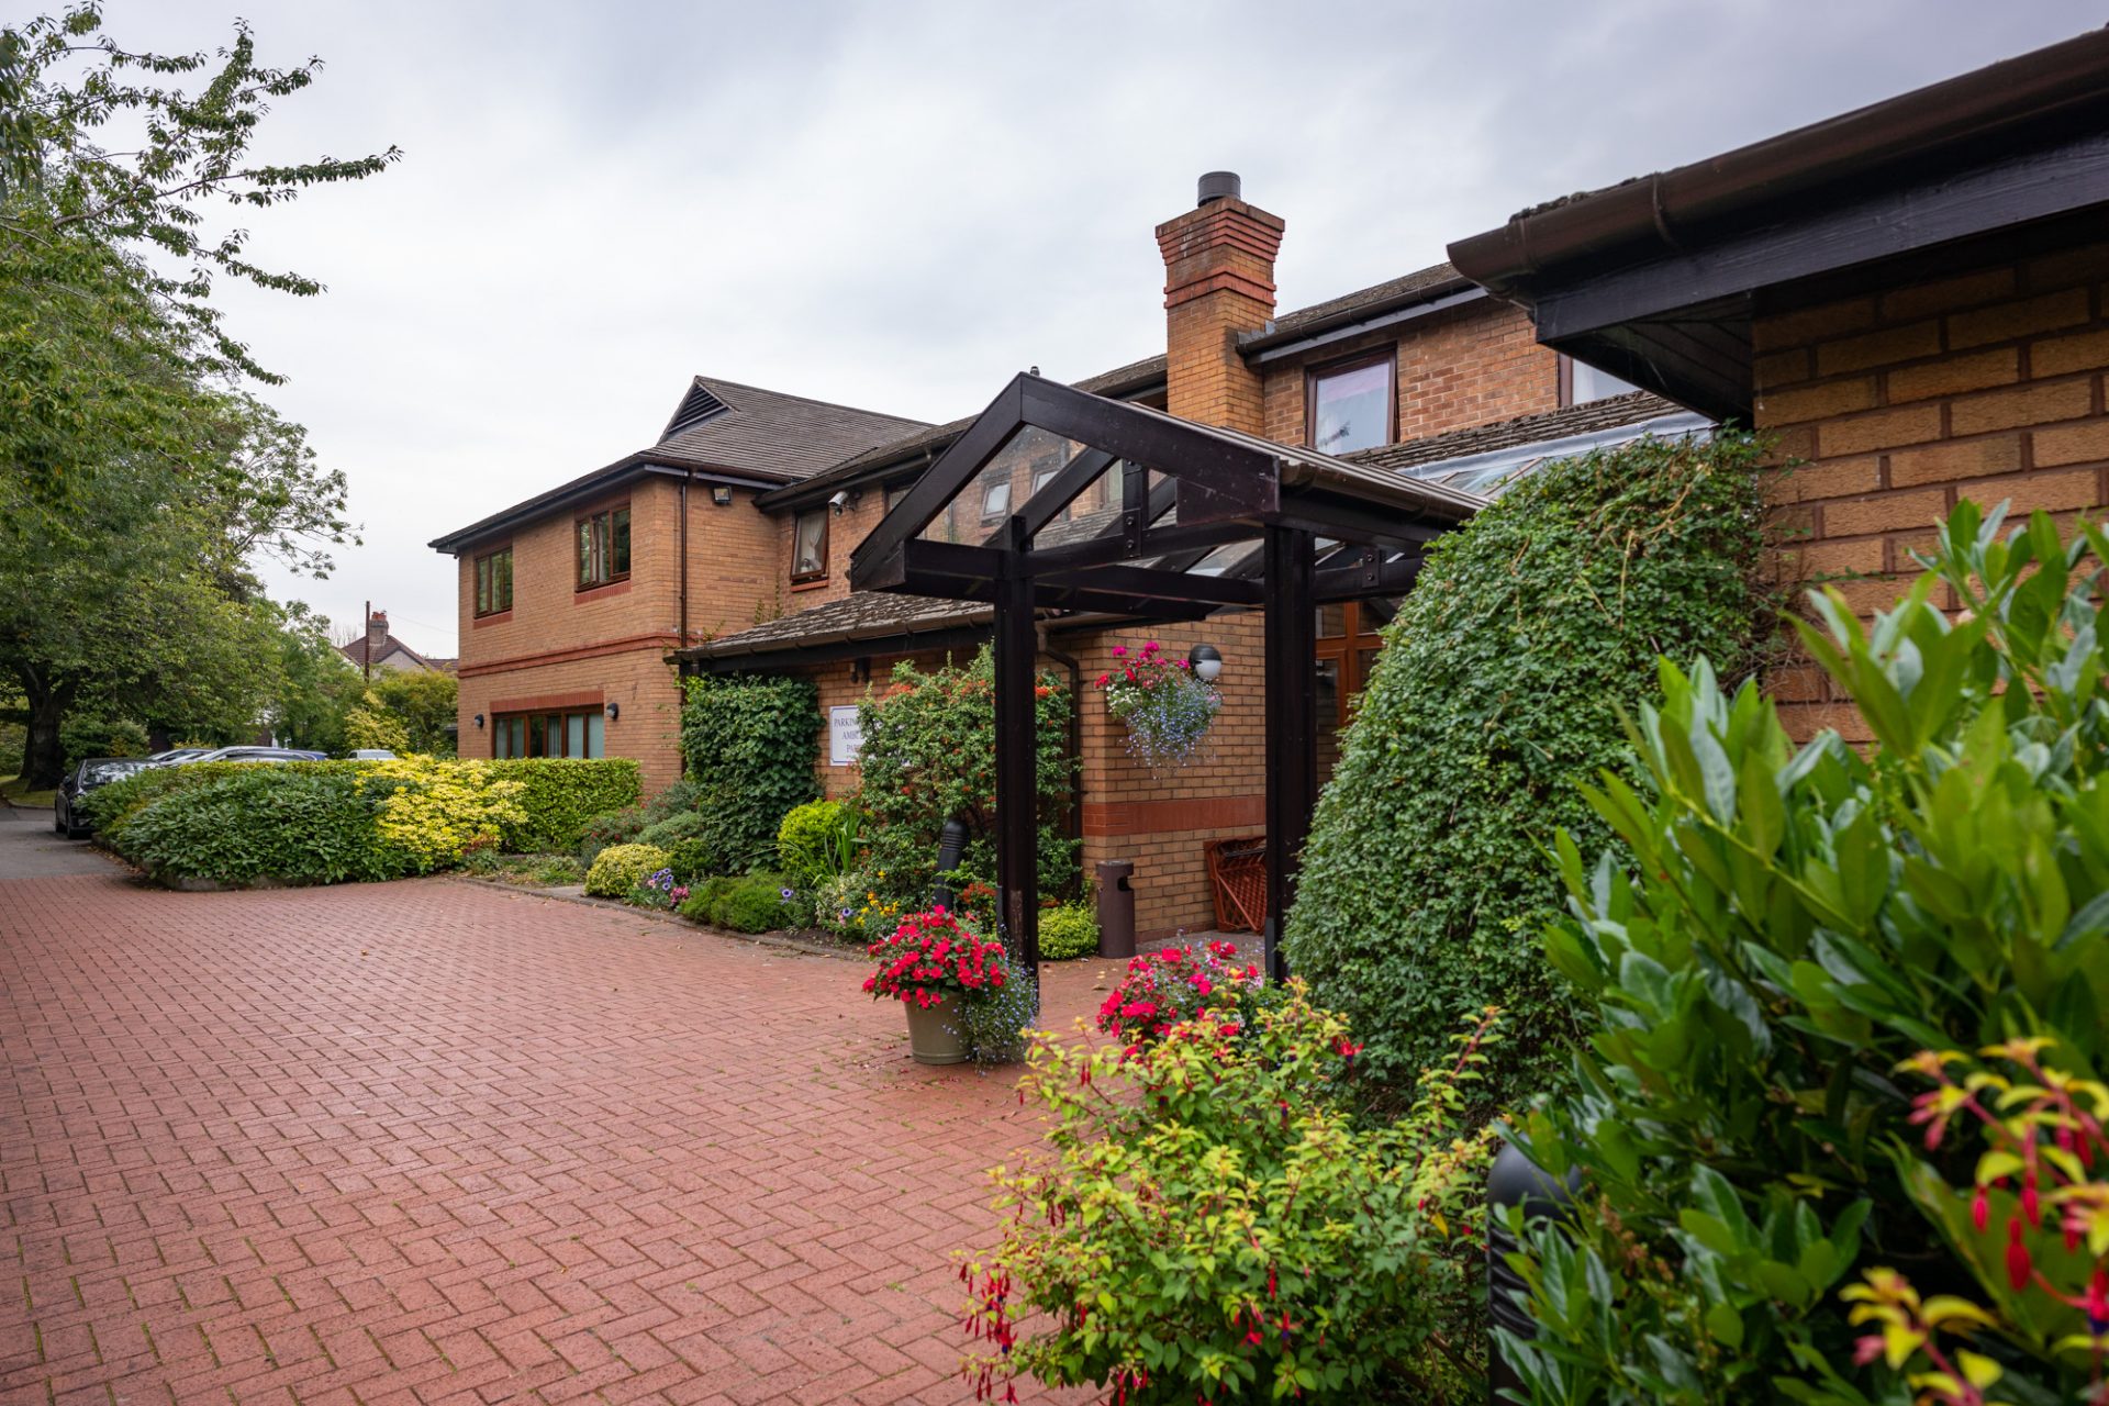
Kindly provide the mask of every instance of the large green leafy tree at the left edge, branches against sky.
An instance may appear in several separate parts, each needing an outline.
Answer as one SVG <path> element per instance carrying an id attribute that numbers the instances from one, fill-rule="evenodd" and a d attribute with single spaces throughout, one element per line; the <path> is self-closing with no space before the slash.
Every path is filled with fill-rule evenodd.
<path id="1" fill-rule="evenodd" d="M 276 377 L 211 301 L 221 274 L 321 291 L 249 261 L 213 207 L 394 158 L 249 158 L 268 103 L 318 67 L 257 67 L 245 25 L 215 55 L 129 51 L 95 4 L 0 27 L 0 670 L 32 786 L 89 702 L 186 731 L 262 721 L 285 660 L 249 567 L 321 575 L 352 540 L 344 476 L 240 390 Z"/>

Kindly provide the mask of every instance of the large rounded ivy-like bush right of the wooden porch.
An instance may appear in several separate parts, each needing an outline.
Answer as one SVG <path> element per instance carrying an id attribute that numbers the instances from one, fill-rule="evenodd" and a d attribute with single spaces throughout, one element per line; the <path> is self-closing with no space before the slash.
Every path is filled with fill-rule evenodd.
<path id="1" fill-rule="evenodd" d="M 1535 1092 L 1575 1031 L 1535 934 L 1546 860 L 1603 826 L 1578 782 L 1615 765 L 1620 704 L 1658 653 L 1742 670 L 1769 626 L 1759 445 L 1641 441 L 1546 464 L 1434 544 L 1312 820 L 1284 953 L 1394 1090 L 1453 1018 L 1510 1012 L 1491 1090 Z"/>

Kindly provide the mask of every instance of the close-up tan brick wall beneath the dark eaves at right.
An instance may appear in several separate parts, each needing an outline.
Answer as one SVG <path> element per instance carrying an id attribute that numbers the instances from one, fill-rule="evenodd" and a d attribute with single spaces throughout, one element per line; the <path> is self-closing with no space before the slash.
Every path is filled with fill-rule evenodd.
<path id="1" fill-rule="evenodd" d="M 1759 316 L 1755 419 L 1805 460 L 1778 491 L 1782 569 L 1871 613 L 1961 497 L 2065 521 L 2109 504 L 2105 280 L 2109 245 L 2092 245 Z M 1814 666 L 1772 689 L 1797 736 L 1866 738 Z"/>

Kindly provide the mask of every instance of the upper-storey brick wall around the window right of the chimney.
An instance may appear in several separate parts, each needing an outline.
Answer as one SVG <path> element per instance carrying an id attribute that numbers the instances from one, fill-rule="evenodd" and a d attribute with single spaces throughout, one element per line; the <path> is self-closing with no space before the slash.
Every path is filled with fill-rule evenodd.
<path id="1" fill-rule="evenodd" d="M 1265 436 L 1284 445 L 1305 443 L 1303 386 L 1310 367 L 1369 354 L 1388 341 L 1398 348 L 1398 438 L 1426 438 L 1561 407 L 1559 352 L 1537 346 L 1521 308 L 1483 297 L 1407 323 L 1392 337 L 1329 346 L 1312 360 L 1270 365 Z"/>

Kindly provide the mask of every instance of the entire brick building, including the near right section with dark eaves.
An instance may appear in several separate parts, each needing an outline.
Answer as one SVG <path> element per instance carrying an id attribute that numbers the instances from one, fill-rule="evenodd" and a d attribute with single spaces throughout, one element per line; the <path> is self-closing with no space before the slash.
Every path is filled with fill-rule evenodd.
<path id="1" fill-rule="evenodd" d="M 1788 569 L 1841 575 L 1873 609 L 1957 493 L 2109 502 L 2105 78 L 2109 38 L 2084 36 L 1529 211 L 1455 245 L 1453 263 L 1293 312 L 1274 287 L 1286 221 L 1234 177 L 1204 177 L 1200 202 L 1156 230 L 1164 354 L 1078 388 L 1462 487 L 1643 432 L 1755 422 L 1807 460 L 1782 489 L 1801 533 Z M 673 664 L 799 672 L 820 694 L 820 784 L 848 793 L 854 757 L 829 712 L 896 660 L 989 639 L 987 605 L 848 582 L 852 550 L 970 424 L 698 377 L 652 449 L 439 540 L 462 561 L 464 755 L 605 748 L 656 786 L 679 772 Z M 1006 449 L 947 508 L 951 540 L 1004 523 L 1063 462 L 1059 441 Z M 1114 504 L 1071 508 L 1097 510 Z M 1320 761 L 1390 609 L 1320 611 L 1299 662 L 1327 723 Z M 1090 689 L 1114 645 L 1143 639 L 1225 660 L 1215 755 L 1175 776 L 1126 755 Z M 1202 845 L 1263 826 L 1257 611 L 1149 624 L 1050 607 L 1040 662 L 1082 685 L 1086 864 L 1137 862 L 1143 932 L 1208 925 Z M 1799 729 L 1854 736 L 1810 670 L 1774 687 Z"/>

